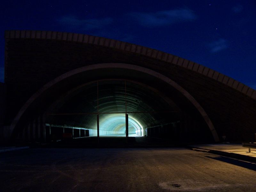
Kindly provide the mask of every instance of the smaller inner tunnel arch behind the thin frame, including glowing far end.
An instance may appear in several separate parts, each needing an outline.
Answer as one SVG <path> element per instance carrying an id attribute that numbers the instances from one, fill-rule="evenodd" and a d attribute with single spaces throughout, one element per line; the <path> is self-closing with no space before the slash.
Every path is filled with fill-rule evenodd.
<path id="1" fill-rule="evenodd" d="M 180 109 L 163 93 L 125 79 L 86 83 L 54 103 L 50 111 L 46 113 L 49 126 L 83 127 L 89 130 L 90 136 L 97 136 L 96 115 L 99 115 L 100 136 L 126 136 L 126 118 L 128 136 L 154 136 L 147 128 L 149 131 L 156 125 L 162 128 L 166 119 L 174 124 L 182 116 Z"/>

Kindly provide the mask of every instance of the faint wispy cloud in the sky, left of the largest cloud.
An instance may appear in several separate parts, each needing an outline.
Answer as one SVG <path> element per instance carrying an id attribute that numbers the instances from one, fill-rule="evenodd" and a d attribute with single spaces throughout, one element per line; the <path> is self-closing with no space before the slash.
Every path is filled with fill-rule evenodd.
<path id="1" fill-rule="evenodd" d="M 100 29 L 112 23 L 112 18 L 102 19 L 78 19 L 75 16 L 64 16 L 58 19 L 58 22 L 62 25 L 72 26 L 83 30 Z"/>

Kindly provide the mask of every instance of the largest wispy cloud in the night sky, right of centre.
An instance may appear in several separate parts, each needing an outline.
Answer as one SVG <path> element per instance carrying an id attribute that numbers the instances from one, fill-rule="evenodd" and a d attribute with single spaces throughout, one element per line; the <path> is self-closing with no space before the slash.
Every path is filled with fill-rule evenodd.
<path id="1" fill-rule="evenodd" d="M 197 16 L 189 9 L 175 9 L 159 12 L 134 12 L 132 18 L 144 27 L 168 26 L 174 23 L 193 21 Z"/>

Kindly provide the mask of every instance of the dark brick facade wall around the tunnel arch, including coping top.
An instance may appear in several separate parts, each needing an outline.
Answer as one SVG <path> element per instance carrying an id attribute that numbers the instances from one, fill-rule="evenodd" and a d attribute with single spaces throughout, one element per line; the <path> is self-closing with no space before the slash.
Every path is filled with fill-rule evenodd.
<path id="1" fill-rule="evenodd" d="M 121 41 L 51 31 L 6 31 L 5 83 L 10 125 L 44 84 L 70 70 L 97 63 L 152 69 L 182 86 L 204 108 L 220 138 L 254 140 L 256 91 L 217 71 L 172 54 Z"/>

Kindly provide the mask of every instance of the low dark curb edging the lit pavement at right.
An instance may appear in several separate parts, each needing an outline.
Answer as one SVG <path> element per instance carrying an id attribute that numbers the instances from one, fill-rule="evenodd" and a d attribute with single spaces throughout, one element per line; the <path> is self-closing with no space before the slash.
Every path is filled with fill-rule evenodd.
<path id="1" fill-rule="evenodd" d="M 196 149 L 196 151 L 201 151 L 201 152 L 207 152 L 207 153 L 212 153 L 212 154 L 216 154 L 216 155 L 232 157 L 232 158 L 243 160 L 243 161 L 256 162 L 255 157 L 245 156 L 245 155 L 241 155 L 241 154 L 237 154 L 237 153 L 229 153 L 229 152 L 226 152 L 226 151 L 199 148 L 199 147 L 195 147 L 195 146 L 188 146 L 188 148 L 190 148 L 192 150 Z M 201 149 L 201 150 L 198 150 L 198 149 Z"/>

